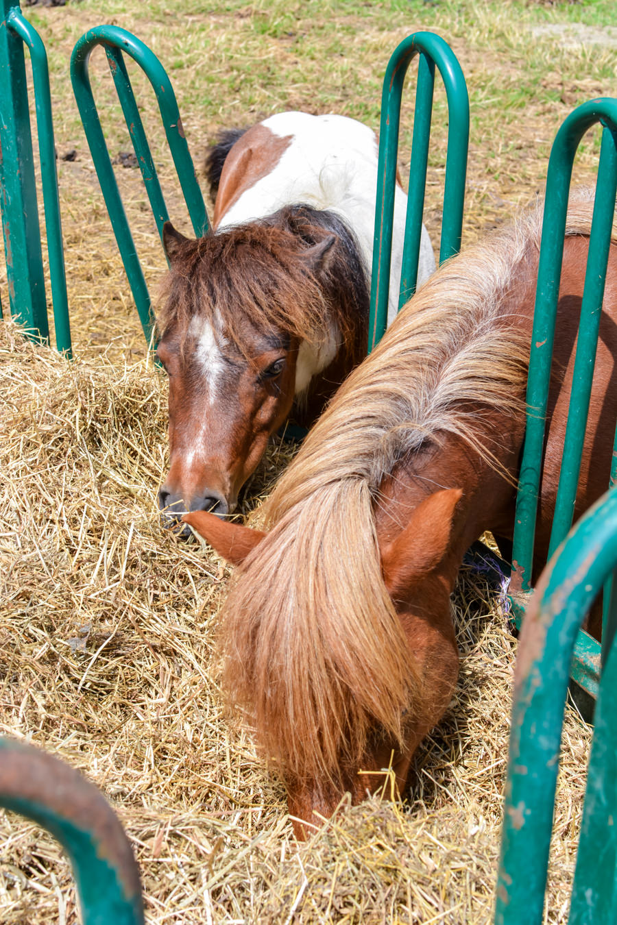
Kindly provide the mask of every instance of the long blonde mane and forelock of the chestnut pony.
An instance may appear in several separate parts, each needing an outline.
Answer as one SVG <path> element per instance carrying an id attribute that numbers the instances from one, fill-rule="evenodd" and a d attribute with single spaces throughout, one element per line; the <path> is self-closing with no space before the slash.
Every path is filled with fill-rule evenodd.
<path id="1" fill-rule="evenodd" d="M 592 193 L 593 194 L 593 193 Z M 581 191 L 568 233 L 588 234 Z M 373 502 L 426 440 L 488 462 L 478 406 L 524 413 L 529 335 L 504 312 L 535 261 L 541 203 L 431 277 L 351 376 L 282 475 L 222 617 L 231 702 L 290 782 L 345 784 L 379 730 L 403 741 L 422 685 L 381 575 Z M 525 264 L 526 266 L 526 264 Z"/>

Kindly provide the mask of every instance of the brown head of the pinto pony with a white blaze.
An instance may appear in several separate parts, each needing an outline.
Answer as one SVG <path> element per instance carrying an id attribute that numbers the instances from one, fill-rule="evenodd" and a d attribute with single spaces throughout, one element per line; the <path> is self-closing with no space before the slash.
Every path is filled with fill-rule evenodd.
<path id="1" fill-rule="evenodd" d="M 288 223 L 289 224 L 289 223 Z M 170 262 L 157 349 L 169 378 L 168 524 L 224 516 L 338 332 L 325 322 L 335 236 L 252 223 L 199 240 L 164 228 Z M 326 334 L 324 333 L 326 332 Z"/>

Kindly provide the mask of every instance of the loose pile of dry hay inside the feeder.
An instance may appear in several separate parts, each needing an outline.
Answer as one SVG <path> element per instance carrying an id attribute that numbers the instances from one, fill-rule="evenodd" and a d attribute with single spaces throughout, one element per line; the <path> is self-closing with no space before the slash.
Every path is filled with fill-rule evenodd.
<path id="1" fill-rule="evenodd" d="M 417 756 L 413 796 L 343 805 L 297 845 L 281 786 L 223 716 L 214 640 L 228 571 L 159 527 L 166 404 L 152 364 L 68 364 L 0 323 L 0 733 L 101 787 L 150 922 L 488 922 L 515 649 L 499 597 L 463 571 L 460 683 Z M 253 498 L 289 455 L 268 454 Z M 549 922 L 567 916 L 588 739 L 568 710 Z M 57 845 L 16 816 L 0 822 L 3 921 L 77 921 Z"/>

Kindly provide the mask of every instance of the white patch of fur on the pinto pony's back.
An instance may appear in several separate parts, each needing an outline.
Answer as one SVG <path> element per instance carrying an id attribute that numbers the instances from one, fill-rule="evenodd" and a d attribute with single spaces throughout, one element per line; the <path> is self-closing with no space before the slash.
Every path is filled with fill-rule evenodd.
<path id="1" fill-rule="evenodd" d="M 291 203 L 306 203 L 340 216 L 352 229 L 370 277 L 373 262 L 377 189 L 377 141 L 375 132 L 345 116 L 311 116 L 288 112 L 266 118 L 266 129 L 280 138 L 292 136 L 270 174 L 245 190 L 218 228 L 229 228 L 269 216 Z M 407 196 L 400 187 L 394 197 L 394 229 L 388 322 L 397 314 L 401 285 L 402 245 Z M 418 285 L 435 270 L 435 256 L 426 228 L 422 229 Z"/>

